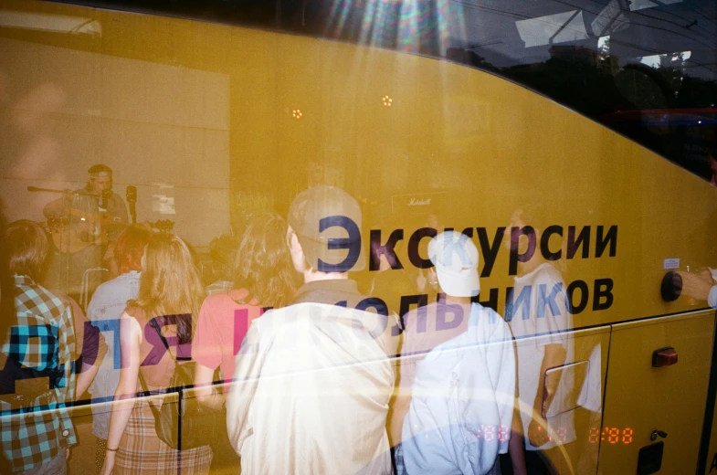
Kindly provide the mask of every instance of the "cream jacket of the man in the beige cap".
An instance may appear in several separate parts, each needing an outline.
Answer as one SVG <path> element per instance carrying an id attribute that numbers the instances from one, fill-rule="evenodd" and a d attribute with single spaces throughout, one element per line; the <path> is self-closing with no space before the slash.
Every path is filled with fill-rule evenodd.
<path id="1" fill-rule="evenodd" d="M 252 322 L 227 396 L 242 473 L 391 473 L 388 355 L 397 340 L 386 335 L 394 325 L 315 302 Z"/>

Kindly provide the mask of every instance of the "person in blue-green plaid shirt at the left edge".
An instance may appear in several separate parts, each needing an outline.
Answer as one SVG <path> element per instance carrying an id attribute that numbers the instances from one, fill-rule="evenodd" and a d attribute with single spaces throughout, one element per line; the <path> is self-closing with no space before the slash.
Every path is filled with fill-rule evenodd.
<path id="1" fill-rule="evenodd" d="M 71 307 L 36 283 L 49 248 L 45 231 L 20 220 L 7 227 L 5 240 L 17 323 L 2 357 L 5 370 L 16 369 L 15 393 L 0 396 L 0 445 L 15 473 L 65 474 L 69 447 L 77 443 L 63 410 L 75 396 Z"/>

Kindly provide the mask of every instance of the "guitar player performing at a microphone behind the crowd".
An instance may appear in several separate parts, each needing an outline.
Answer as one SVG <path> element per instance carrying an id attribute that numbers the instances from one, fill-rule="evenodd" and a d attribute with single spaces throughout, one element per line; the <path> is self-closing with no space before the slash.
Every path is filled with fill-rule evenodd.
<path id="1" fill-rule="evenodd" d="M 45 283 L 77 301 L 85 270 L 104 267 L 108 246 L 128 221 L 124 200 L 112 192 L 111 168 L 96 164 L 88 174 L 87 185 L 47 203 L 43 210 L 48 222 L 60 223 L 53 232 L 55 246 L 48 259 Z M 102 277 L 100 272 L 90 274 L 90 294 Z"/>

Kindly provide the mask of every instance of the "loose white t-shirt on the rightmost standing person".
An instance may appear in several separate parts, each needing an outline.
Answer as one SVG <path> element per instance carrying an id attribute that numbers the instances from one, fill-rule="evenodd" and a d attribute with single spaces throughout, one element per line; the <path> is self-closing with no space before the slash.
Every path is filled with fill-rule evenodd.
<path id="1" fill-rule="evenodd" d="M 534 447 L 527 437 L 528 426 L 532 420 L 532 406 L 538 394 L 538 385 L 543 385 L 544 375 L 540 374 L 540 370 L 545 346 L 551 343 L 562 344 L 566 352 L 565 364 L 573 363 L 573 339 L 566 333 L 573 328 L 573 314 L 565 299 L 563 276 L 550 263 L 543 263 L 531 273 L 516 277 L 512 291 L 513 311 L 511 314 L 506 311 L 506 319 L 511 318 L 508 323 L 517 340 L 518 396 L 523 433 L 526 435 L 525 449 L 551 449 L 575 440 L 573 411 L 561 412 L 561 407 L 565 406 L 565 400 L 572 394 L 575 385 L 569 371 L 564 372 L 553 403 L 545 411 L 552 440 L 539 448 Z M 527 298 L 528 292 L 530 299 Z"/>

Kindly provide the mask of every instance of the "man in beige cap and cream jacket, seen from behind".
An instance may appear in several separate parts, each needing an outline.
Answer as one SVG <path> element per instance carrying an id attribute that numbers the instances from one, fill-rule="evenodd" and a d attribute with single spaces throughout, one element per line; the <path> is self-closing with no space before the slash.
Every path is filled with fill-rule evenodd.
<path id="1" fill-rule="evenodd" d="M 390 474 L 395 347 L 385 335 L 397 321 L 349 279 L 364 266 L 361 208 L 316 185 L 293 200 L 287 221 L 304 285 L 251 323 L 237 354 L 227 432 L 241 471 Z"/>

